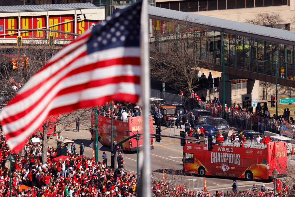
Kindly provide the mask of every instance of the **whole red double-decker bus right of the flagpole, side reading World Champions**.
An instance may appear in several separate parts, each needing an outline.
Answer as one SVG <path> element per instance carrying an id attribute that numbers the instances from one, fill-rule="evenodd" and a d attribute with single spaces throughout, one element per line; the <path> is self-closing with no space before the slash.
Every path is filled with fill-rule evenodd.
<path id="1" fill-rule="evenodd" d="M 246 142 L 244 147 L 232 142 L 213 145 L 186 143 L 183 147 L 183 169 L 200 176 L 269 179 L 274 169 L 285 174 L 287 168 L 286 142 L 256 145 Z"/>

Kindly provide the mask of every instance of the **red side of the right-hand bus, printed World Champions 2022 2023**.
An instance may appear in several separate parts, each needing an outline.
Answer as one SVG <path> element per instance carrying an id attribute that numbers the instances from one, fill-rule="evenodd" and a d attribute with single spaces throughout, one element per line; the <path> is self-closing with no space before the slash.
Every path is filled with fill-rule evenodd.
<path id="1" fill-rule="evenodd" d="M 262 163 L 262 158 L 267 158 L 266 149 L 214 145 L 207 151 L 206 146 L 188 143 L 183 152 L 194 154 L 194 163 L 184 164 L 188 173 L 197 174 L 199 167 L 204 167 L 206 175 L 245 178 L 250 170 L 254 179 L 268 179 L 268 164 L 266 160 Z"/>

